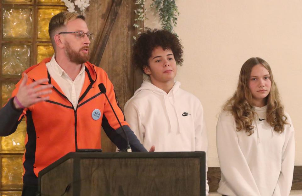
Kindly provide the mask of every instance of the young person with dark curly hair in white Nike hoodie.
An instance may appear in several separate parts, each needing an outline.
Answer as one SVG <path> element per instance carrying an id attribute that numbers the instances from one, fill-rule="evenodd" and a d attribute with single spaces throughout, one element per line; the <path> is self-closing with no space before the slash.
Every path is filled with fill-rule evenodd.
<path id="1" fill-rule="evenodd" d="M 174 81 L 182 65 L 182 45 L 166 30 L 147 30 L 133 46 L 133 63 L 149 81 L 127 101 L 126 121 L 140 142 L 155 151 L 208 150 L 203 107 Z M 207 166 L 206 166 L 207 171 Z M 206 183 L 206 194 L 209 186 Z"/>

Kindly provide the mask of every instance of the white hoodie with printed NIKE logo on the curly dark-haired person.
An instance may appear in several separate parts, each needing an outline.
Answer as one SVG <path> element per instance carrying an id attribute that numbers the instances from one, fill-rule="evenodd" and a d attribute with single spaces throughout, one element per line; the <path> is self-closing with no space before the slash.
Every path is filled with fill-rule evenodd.
<path id="1" fill-rule="evenodd" d="M 208 138 L 203 107 L 197 97 L 175 82 L 167 94 L 144 82 L 125 105 L 126 121 L 146 149 L 155 151 L 205 151 Z M 206 183 L 206 194 L 209 186 Z"/>

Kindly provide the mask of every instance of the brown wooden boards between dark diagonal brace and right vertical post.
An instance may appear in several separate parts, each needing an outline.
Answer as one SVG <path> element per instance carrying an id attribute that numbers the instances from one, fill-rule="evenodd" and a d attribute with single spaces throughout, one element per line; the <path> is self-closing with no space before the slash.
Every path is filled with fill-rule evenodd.
<path id="1" fill-rule="evenodd" d="M 100 67 L 105 69 L 109 79 L 115 86 L 120 106 L 123 108 L 124 103 L 133 95 L 133 81 L 129 79 L 133 74 L 130 65 L 130 46 L 128 42 L 128 24 L 131 25 L 128 17 L 130 1 L 122 1 L 119 13 L 115 20 L 111 35 L 107 42 Z"/>

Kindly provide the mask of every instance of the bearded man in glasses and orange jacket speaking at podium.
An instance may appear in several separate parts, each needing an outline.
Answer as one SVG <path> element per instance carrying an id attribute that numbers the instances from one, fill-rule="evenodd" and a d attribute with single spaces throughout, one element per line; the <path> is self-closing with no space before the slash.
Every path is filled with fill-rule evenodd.
<path id="1" fill-rule="evenodd" d="M 100 149 L 101 126 L 118 148 L 126 147 L 122 128 L 99 84 L 105 86 L 132 150 L 147 151 L 125 121 L 106 72 L 88 62 L 93 34 L 85 17 L 59 13 L 49 22 L 49 35 L 55 54 L 25 70 L 12 98 L 0 110 L 1 136 L 14 133 L 26 117 L 22 195 L 35 195 L 39 171 L 67 153 Z"/>

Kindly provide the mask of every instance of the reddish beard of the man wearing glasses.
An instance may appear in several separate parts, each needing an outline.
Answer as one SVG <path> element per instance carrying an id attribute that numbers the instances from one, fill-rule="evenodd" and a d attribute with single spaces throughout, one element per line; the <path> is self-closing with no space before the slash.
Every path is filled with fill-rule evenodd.
<path id="1" fill-rule="evenodd" d="M 85 53 L 81 54 L 81 50 L 84 50 L 84 49 L 89 49 L 89 47 L 84 46 L 77 52 L 70 47 L 69 42 L 66 42 L 66 55 L 69 58 L 70 62 L 73 62 L 76 64 L 83 64 L 86 61 L 88 61 L 89 57 L 90 57 L 90 53 L 88 51 L 87 54 L 85 54 Z"/>

